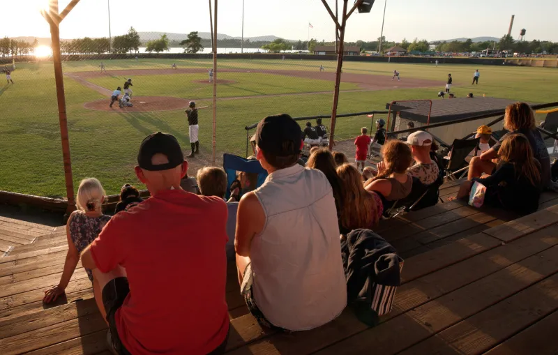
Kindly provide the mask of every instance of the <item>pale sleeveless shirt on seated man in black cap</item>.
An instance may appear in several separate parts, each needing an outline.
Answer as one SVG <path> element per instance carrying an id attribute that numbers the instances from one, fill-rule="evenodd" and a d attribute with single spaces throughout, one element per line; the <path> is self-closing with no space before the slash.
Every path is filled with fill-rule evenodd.
<path id="1" fill-rule="evenodd" d="M 326 176 L 296 164 L 270 174 L 255 195 L 266 214 L 250 249 L 257 307 L 291 331 L 335 319 L 347 304 L 347 286 Z"/>

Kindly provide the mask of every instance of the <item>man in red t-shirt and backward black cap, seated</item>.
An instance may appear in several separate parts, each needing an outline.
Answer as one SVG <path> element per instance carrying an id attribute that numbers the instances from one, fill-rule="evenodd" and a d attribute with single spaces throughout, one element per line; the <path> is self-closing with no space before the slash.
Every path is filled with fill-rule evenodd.
<path id="1" fill-rule="evenodd" d="M 103 289 L 109 344 L 119 354 L 222 354 L 227 205 L 180 188 L 188 163 L 172 135 L 146 137 L 137 163 L 151 198 L 115 215 L 82 252 Z"/>

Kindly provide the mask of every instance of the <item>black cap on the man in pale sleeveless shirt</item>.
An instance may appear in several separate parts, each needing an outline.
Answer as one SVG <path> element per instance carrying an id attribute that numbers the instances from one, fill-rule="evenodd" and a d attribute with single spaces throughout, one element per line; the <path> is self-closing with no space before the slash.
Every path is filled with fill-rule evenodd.
<path id="1" fill-rule="evenodd" d="M 289 148 L 285 142 L 292 142 Z M 256 144 L 274 156 L 292 156 L 301 152 L 302 130 L 288 114 L 267 116 L 256 128 Z"/>

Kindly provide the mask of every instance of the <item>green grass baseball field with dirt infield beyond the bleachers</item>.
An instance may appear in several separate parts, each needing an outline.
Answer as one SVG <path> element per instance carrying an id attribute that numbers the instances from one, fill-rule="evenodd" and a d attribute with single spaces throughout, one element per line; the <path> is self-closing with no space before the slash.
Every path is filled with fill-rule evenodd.
<path id="1" fill-rule="evenodd" d="M 172 133 L 187 152 L 188 101 L 198 107 L 202 153 L 190 161 L 190 174 L 211 163 L 212 86 L 206 59 L 135 59 L 68 61 L 65 74 L 68 130 L 75 186 L 94 176 L 107 193 L 123 183 L 137 183 L 133 172 L 141 140 L 156 131 Z M 176 63 L 177 70 L 172 70 Z M 324 72 L 319 71 L 322 64 Z M 472 75 L 479 69 L 478 86 Z M 233 60 L 218 62 L 216 147 L 223 153 L 245 153 L 246 130 L 269 114 L 330 114 L 334 61 Z M 392 81 L 398 70 L 401 81 Z M 446 76 L 456 96 L 493 96 L 531 103 L 555 101 L 558 70 L 515 66 L 468 66 L 345 62 L 339 113 L 384 109 L 392 100 L 439 100 Z M 0 84 L 0 190 L 48 197 L 65 195 L 58 109 L 52 62 L 17 63 L 15 84 Z M 110 93 L 132 78 L 134 107 L 109 108 Z M 1 78 L 3 79 L 3 77 Z M 542 119 L 542 116 L 539 118 Z M 329 120 L 324 120 L 329 126 Z M 301 122 L 303 124 L 303 122 Z M 339 119 L 336 139 L 370 126 L 366 116 Z"/>

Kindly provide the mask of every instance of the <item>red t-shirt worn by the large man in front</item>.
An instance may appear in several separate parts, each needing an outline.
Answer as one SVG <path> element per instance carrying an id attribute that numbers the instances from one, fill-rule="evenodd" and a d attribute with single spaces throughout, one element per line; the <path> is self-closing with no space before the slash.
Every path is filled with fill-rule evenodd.
<path id="1" fill-rule="evenodd" d="M 126 268 L 114 317 L 132 354 L 207 354 L 227 336 L 227 204 L 164 190 L 116 214 L 91 244 L 97 268 Z"/>

